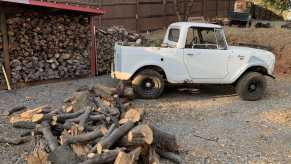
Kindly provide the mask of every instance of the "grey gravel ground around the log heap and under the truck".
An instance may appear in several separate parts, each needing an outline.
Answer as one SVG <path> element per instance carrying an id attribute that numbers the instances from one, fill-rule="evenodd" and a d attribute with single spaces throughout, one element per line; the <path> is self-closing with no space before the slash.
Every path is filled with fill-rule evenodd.
<path id="1" fill-rule="evenodd" d="M 77 88 L 96 82 L 113 84 L 100 77 L 2 91 L 0 110 L 16 105 L 61 107 Z M 187 163 L 291 163 L 291 78 L 270 80 L 268 94 L 256 102 L 240 100 L 230 87 L 196 88 L 171 87 L 161 99 L 133 104 L 146 110 L 146 121 L 177 135 Z M 4 117 L 0 131 L 2 136 L 23 132 Z M 0 144 L 0 163 L 24 163 L 31 145 Z"/>

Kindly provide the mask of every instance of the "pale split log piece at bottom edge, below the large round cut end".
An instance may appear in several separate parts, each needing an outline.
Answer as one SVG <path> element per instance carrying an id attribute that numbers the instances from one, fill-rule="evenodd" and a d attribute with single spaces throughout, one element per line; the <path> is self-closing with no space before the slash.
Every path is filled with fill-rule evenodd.
<path id="1" fill-rule="evenodd" d="M 129 154 L 125 152 L 119 152 L 114 164 L 135 164 L 139 159 L 141 149 L 141 147 L 138 147 L 131 151 Z"/>

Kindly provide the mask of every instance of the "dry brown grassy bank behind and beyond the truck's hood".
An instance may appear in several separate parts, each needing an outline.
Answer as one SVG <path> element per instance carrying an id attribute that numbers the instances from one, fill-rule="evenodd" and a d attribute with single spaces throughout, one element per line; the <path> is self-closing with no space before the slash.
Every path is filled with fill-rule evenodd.
<path id="1" fill-rule="evenodd" d="M 242 42 L 273 48 L 277 56 L 276 72 L 291 73 L 291 30 L 226 27 L 230 45 Z"/>

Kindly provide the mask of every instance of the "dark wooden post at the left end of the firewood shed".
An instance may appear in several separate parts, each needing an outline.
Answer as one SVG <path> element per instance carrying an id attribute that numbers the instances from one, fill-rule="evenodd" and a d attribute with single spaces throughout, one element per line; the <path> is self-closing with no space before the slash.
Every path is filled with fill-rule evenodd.
<path id="1" fill-rule="evenodd" d="M 0 8 L 1 11 L 1 32 L 2 32 L 2 39 L 3 39 L 3 53 L 4 53 L 4 67 L 7 74 L 7 79 L 9 83 L 11 83 L 11 68 L 10 68 L 10 57 L 9 57 L 9 40 L 8 40 L 8 32 L 7 32 L 7 22 L 6 22 L 6 15 L 3 11 L 3 8 Z"/>

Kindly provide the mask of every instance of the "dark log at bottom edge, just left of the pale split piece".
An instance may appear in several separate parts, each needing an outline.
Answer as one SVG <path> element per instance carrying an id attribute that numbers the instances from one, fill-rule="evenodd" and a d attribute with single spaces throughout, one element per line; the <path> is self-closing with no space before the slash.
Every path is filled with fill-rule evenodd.
<path id="1" fill-rule="evenodd" d="M 105 164 L 105 163 L 113 163 L 116 159 L 117 155 L 121 152 L 120 149 L 109 150 L 102 154 L 97 154 L 92 159 L 82 162 L 81 164 Z"/>

